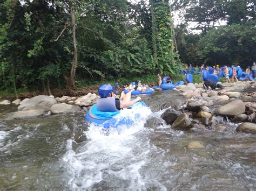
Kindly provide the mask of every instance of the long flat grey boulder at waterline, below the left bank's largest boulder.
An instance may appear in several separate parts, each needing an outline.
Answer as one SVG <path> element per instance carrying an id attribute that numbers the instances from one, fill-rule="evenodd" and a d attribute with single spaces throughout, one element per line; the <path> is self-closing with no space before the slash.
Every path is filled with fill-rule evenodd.
<path id="1" fill-rule="evenodd" d="M 16 111 L 11 112 L 3 116 L 4 120 L 12 119 L 29 119 L 34 117 L 39 117 L 43 115 L 43 111 L 40 110 L 25 110 L 25 111 Z"/>

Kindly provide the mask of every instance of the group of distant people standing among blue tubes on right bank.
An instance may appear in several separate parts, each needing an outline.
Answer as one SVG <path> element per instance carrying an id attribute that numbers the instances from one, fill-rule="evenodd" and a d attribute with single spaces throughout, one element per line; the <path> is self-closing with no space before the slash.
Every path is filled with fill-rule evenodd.
<path id="1" fill-rule="evenodd" d="M 231 77 L 232 83 L 234 82 L 234 79 L 238 82 L 238 79 L 237 79 L 238 69 L 237 69 L 237 67 L 240 67 L 240 66 L 239 66 L 239 65 L 237 65 L 237 66 L 232 65 L 232 66 L 231 66 L 232 72 L 233 72 L 233 75 L 232 75 L 232 77 Z M 204 64 L 202 64 L 202 65 L 200 66 L 200 68 L 196 65 L 196 67 L 194 68 L 194 70 L 197 71 L 198 69 L 201 70 L 201 73 L 204 73 L 204 69 L 210 70 L 210 68 L 209 68 L 208 66 L 205 66 Z M 221 72 L 221 68 L 219 67 L 219 65 L 213 66 L 212 69 L 213 69 L 213 72 L 212 72 L 213 74 L 219 75 L 219 73 Z M 190 65 L 186 65 L 186 66 L 185 66 L 185 70 L 188 70 L 188 71 L 189 71 L 189 70 L 192 70 L 192 65 L 191 65 L 191 64 L 190 64 Z M 227 81 L 228 83 L 230 83 L 230 82 L 231 82 L 231 81 L 230 81 L 230 75 L 229 75 L 230 70 L 228 69 L 227 66 L 223 66 L 223 67 L 222 67 L 222 70 L 223 70 L 223 72 L 224 72 L 226 81 Z M 256 79 L 256 62 L 253 62 L 253 65 L 252 65 L 251 67 L 248 66 L 248 67 L 246 68 L 245 73 L 246 73 L 247 76 L 248 76 L 248 77 L 247 77 L 247 80 L 250 80 L 250 79 L 249 79 L 249 74 L 250 74 L 251 72 L 253 72 L 253 74 L 254 74 L 254 80 L 255 80 L 255 79 Z"/>

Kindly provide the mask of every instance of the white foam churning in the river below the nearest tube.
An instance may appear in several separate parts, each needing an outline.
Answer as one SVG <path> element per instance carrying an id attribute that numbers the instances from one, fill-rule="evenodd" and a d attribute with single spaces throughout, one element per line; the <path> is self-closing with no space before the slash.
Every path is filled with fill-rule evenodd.
<path id="1" fill-rule="evenodd" d="M 107 182 L 110 188 L 115 183 L 118 188 L 118 182 L 125 182 L 129 184 L 125 188 L 146 189 L 147 180 L 140 174 L 140 169 L 147 164 L 152 147 L 150 140 L 143 137 L 148 131 L 144 123 L 150 114 L 149 108 L 134 107 L 122 110 L 117 116 L 117 120 L 130 118 L 134 123 L 132 126 L 103 129 L 91 124 L 84 132 L 87 142 L 77 151 L 72 150 L 70 139 L 68 152 L 63 157 L 70 176 L 68 185 L 72 189 L 93 189 L 97 183 L 105 185 Z"/>

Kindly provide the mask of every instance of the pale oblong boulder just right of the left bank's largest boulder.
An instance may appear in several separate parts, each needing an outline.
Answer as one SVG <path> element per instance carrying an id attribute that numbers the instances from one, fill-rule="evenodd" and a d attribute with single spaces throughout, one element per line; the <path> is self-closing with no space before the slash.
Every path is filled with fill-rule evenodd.
<path id="1" fill-rule="evenodd" d="M 77 105 L 70 105 L 70 104 L 63 104 L 63 103 L 57 103 L 52 105 L 51 112 L 53 114 L 60 114 L 60 113 L 75 113 L 79 112 L 82 109 Z"/>

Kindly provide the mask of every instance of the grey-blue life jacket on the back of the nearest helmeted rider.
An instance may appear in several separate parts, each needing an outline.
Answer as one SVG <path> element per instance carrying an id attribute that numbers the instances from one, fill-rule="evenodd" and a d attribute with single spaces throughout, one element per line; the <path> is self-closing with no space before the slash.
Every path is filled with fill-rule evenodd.
<path id="1" fill-rule="evenodd" d="M 99 98 L 97 100 L 97 107 L 103 112 L 119 111 L 116 107 L 116 97 Z"/>

